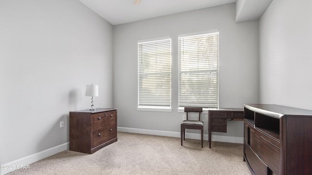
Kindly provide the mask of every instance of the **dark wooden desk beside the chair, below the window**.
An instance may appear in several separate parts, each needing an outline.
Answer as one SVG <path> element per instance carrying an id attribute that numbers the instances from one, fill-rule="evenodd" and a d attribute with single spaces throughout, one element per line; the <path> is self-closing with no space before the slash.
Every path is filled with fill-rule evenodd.
<path id="1" fill-rule="evenodd" d="M 226 133 L 227 119 L 243 121 L 244 109 L 209 109 L 208 116 L 209 148 L 211 148 L 211 132 Z"/>

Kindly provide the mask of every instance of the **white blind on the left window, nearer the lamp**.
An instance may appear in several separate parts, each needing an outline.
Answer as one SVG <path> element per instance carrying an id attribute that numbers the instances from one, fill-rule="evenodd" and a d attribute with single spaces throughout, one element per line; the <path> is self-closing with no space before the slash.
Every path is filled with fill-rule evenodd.
<path id="1" fill-rule="evenodd" d="M 171 39 L 138 42 L 138 107 L 171 106 Z"/>

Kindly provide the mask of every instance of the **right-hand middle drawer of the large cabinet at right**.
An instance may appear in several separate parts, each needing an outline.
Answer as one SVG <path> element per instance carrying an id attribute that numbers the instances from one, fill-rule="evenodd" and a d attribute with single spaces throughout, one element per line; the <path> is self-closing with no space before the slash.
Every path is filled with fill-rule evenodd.
<path id="1" fill-rule="evenodd" d="M 279 175 L 279 154 L 278 147 L 261 137 L 261 159 L 276 175 Z"/>

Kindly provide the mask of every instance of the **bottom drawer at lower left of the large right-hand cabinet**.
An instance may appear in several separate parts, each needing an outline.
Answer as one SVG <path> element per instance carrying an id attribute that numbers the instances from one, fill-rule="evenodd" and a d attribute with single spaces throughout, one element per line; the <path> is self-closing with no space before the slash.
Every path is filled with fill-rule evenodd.
<path id="1" fill-rule="evenodd" d="M 246 159 L 255 175 L 267 175 L 268 167 L 257 157 L 250 146 L 245 145 Z"/>

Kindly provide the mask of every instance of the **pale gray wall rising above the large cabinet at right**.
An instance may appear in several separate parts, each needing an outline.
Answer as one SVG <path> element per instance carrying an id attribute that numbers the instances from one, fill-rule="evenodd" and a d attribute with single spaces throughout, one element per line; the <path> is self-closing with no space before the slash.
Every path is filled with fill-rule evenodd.
<path id="1" fill-rule="evenodd" d="M 260 18 L 260 102 L 312 109 L 312 1 L 273 0 Z"/>

